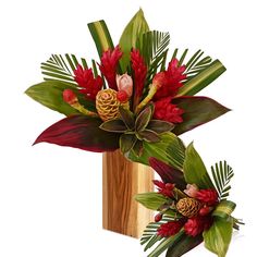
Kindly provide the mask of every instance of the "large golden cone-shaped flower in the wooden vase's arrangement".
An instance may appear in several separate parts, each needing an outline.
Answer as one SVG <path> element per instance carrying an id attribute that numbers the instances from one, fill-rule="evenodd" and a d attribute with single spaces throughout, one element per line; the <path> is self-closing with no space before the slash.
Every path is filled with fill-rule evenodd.
<path id="1" fill-rule="evenodd" d="M 102 121 L 118 118 L 120 101 L 117 99 L 117 91 L 108 88 L 98 91 L 96 96 L 96 108 Z"/>

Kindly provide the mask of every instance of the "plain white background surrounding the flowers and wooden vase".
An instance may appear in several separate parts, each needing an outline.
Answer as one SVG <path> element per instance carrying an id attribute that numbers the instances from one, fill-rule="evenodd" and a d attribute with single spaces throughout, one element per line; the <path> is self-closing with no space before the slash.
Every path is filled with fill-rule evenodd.
<path id="1" fill-rule="evenodd" d="M 40 144 L 36 136 L 60 113 L 24 90 L 41 81 L 50 53 L 97 58 L 87 23 L 105 19 L 118 42 L 142 7 L 151 28 L 169 30 L 172 47 L 201 48 L 228 68 L 200 94 L 233 112 L 187 133 L 207 167 L 227 159 L 231 199 L 246 227 L 228 256 L 254 256 L 256 236 L 255 1 L 1 1 L 0 3 L 0 256 L 146 256 L 136 240 L 101 230 L 101 156 Z M 212 256 L 204 246 L 186 256 Z"/>

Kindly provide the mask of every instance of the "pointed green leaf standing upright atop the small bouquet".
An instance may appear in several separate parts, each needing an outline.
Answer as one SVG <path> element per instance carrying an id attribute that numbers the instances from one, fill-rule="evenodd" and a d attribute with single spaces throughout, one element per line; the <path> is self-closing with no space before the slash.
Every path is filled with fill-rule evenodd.
<path id="1" fill-rule="evenodd" d="M 185 150 L 183 170 L 187 184 L 196 184 L 199 188 L 215 187 L 200 156 L 193 146 L 193 143 L 191 143 Z"/>

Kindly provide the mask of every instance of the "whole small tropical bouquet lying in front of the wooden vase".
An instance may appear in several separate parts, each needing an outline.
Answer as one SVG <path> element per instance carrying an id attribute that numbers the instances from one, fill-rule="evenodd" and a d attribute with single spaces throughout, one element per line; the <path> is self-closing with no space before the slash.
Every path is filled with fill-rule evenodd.
<path id="1" fill-rule="evenodd" d="M 183 170 L 150 158 L 150 166 L 162 181 L 154 181 L 158 192 L 139 194 L 135 198 L 145 207 L 157 210 L 155 222 L 143 236 L 145 250 L 160 242 L 149 257 L 168 249 L 167 257 L 179 257 L 203 241 L 219 257 L 224 257 L 233 228 L 242 221 L 232 217 L 235 204 L 228 200 L 233 176 L 227 161 L 211 167 L 212 179 L 193 144 L 186 148 Z"/>

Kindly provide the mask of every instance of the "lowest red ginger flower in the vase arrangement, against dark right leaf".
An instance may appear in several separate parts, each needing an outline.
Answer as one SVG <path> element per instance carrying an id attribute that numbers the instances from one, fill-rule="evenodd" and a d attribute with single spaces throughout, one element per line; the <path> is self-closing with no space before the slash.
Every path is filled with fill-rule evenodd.
<path id="1" fill-rule="evenodd" d="M 184 110 L 180 109 L 175 105 L 172 105 L 171 99 L 172 97 L 166 97 L 155 102 L 154 118 L 171 123 L 181 123 L 183 122 L 181 115 L 184 113 Z"/>

